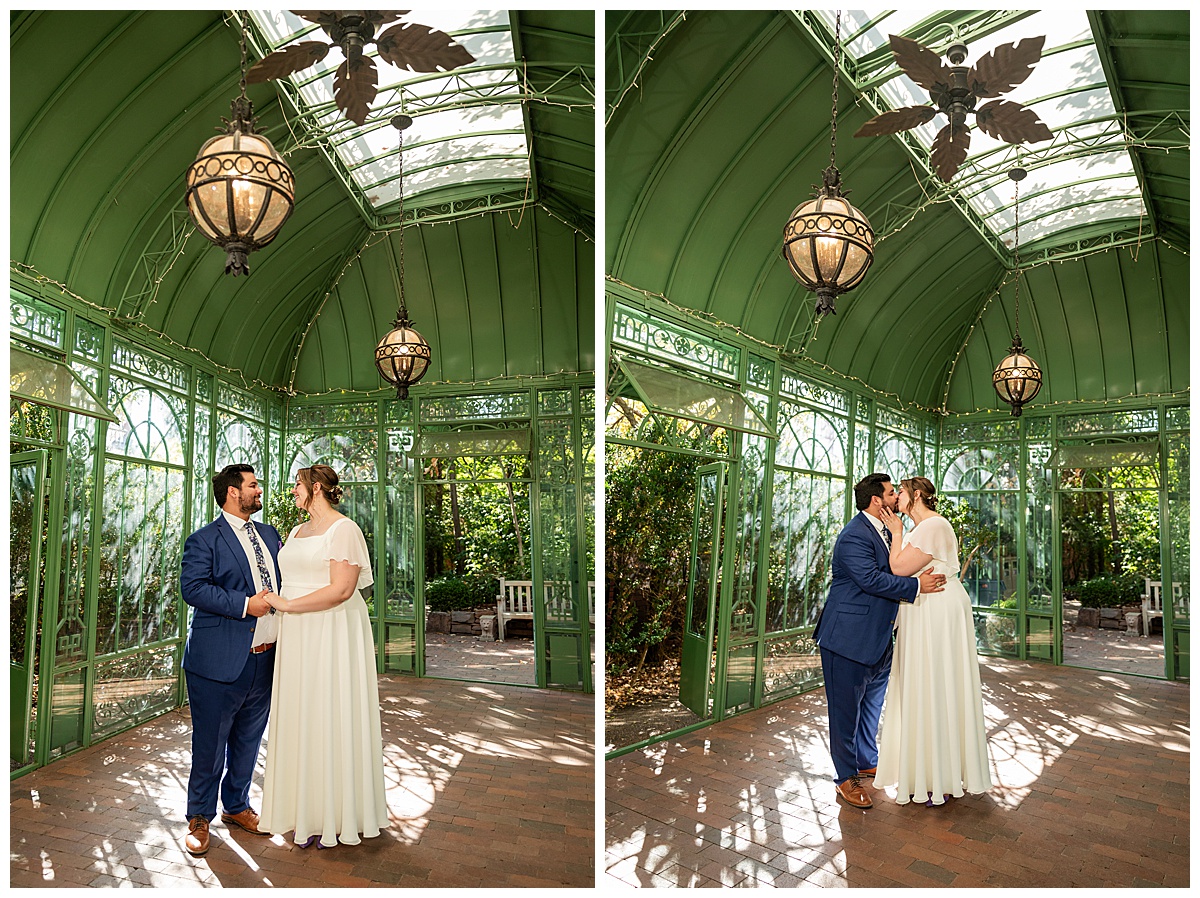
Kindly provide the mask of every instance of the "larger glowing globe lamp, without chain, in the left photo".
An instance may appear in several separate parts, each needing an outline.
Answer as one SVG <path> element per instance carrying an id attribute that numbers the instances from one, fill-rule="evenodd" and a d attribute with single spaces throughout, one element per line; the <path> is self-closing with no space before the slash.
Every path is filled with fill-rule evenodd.
<path id="1" fill-rule="evenodd" d="M 200 148 L 187 169 L 187 211 L 223 249 L 226 274 L 250 274 L 246 256 L 274 240 L 295 205 L 292 169 L 271 142 L 230 125 Z"/>

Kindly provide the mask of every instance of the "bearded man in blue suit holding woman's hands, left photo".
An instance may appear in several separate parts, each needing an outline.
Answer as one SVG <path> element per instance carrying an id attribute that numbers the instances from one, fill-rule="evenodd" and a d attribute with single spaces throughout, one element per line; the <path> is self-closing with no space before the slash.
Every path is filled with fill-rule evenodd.
<path id="1" fill-rule="evenodd" d="M 275 609 L 264 594 L 280 588 L 280 534 L 250 516 L 263 508 L 263 489 L 250 465 L 229 465 L 212 478 L 221 514 L 184 544 L 180 588 L 194 609 L 184 647 L 192 706 L 192 772 L 187 780 L 187 836 L 194 857 L 209 850 L 216 816 L 262 833 L 250 807 L 250 780 L 271 707 Z M 223 778 L 222 778 L 222 774 Z"/>

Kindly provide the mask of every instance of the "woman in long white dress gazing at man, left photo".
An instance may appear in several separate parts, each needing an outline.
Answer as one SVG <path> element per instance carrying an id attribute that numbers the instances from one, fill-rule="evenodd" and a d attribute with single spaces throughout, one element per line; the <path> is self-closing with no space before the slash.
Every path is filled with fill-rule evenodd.
<path id="1" fill-rule="evenodd" d="M 307 848 L 358 845 L 388 826 L 374 642 L 361 589 L 373 582 L 366 539 L 335 505 L 326 465 L 292 490 L 310 520 L 280 550 L 283 612 L 263 776 L 264 832 Z"/>

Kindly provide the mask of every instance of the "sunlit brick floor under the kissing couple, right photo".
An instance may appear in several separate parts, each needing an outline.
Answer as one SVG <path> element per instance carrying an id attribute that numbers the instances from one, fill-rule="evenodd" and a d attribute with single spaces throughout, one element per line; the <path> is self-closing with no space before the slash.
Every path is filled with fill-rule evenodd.
<path id="1" fill-rule="evenodd" d="M 601 885 L 1189 886 L 1190 687 L 982 674 L 985 795 L 841 806 L 817 690 L 605 762 Z"/>

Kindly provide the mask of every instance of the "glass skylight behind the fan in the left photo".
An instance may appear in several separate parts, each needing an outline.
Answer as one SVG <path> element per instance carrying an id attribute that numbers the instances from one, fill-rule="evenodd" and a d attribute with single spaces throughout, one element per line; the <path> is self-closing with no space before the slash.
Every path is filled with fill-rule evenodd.
<path id="1" fill-rule="evenodd" d="M 304 41 L 330 42 L 319 26 L 286 10 L 250 14 L 272 49 Z M 334 73 L 344 59 L 337 47 L 317 65 L 289 77 L 304 112 L 317 122 L 367 202 L 382 209 L 400 198 L 400 132 L 390 120 L 401 108 L 413 118 L 403 132 L 407 197 L 444 187 L 458 188 L 456 198 L 482 196 L 528 181 L 529 140 L 509 13 L 439 5 L 413 7 L 402 22 L 449 34 L 475 61 L 450 73 L 409 72 L 379 59 L 374 44 L 368 44 L 379 90 L 361 127 L 334 104 Z"/>

